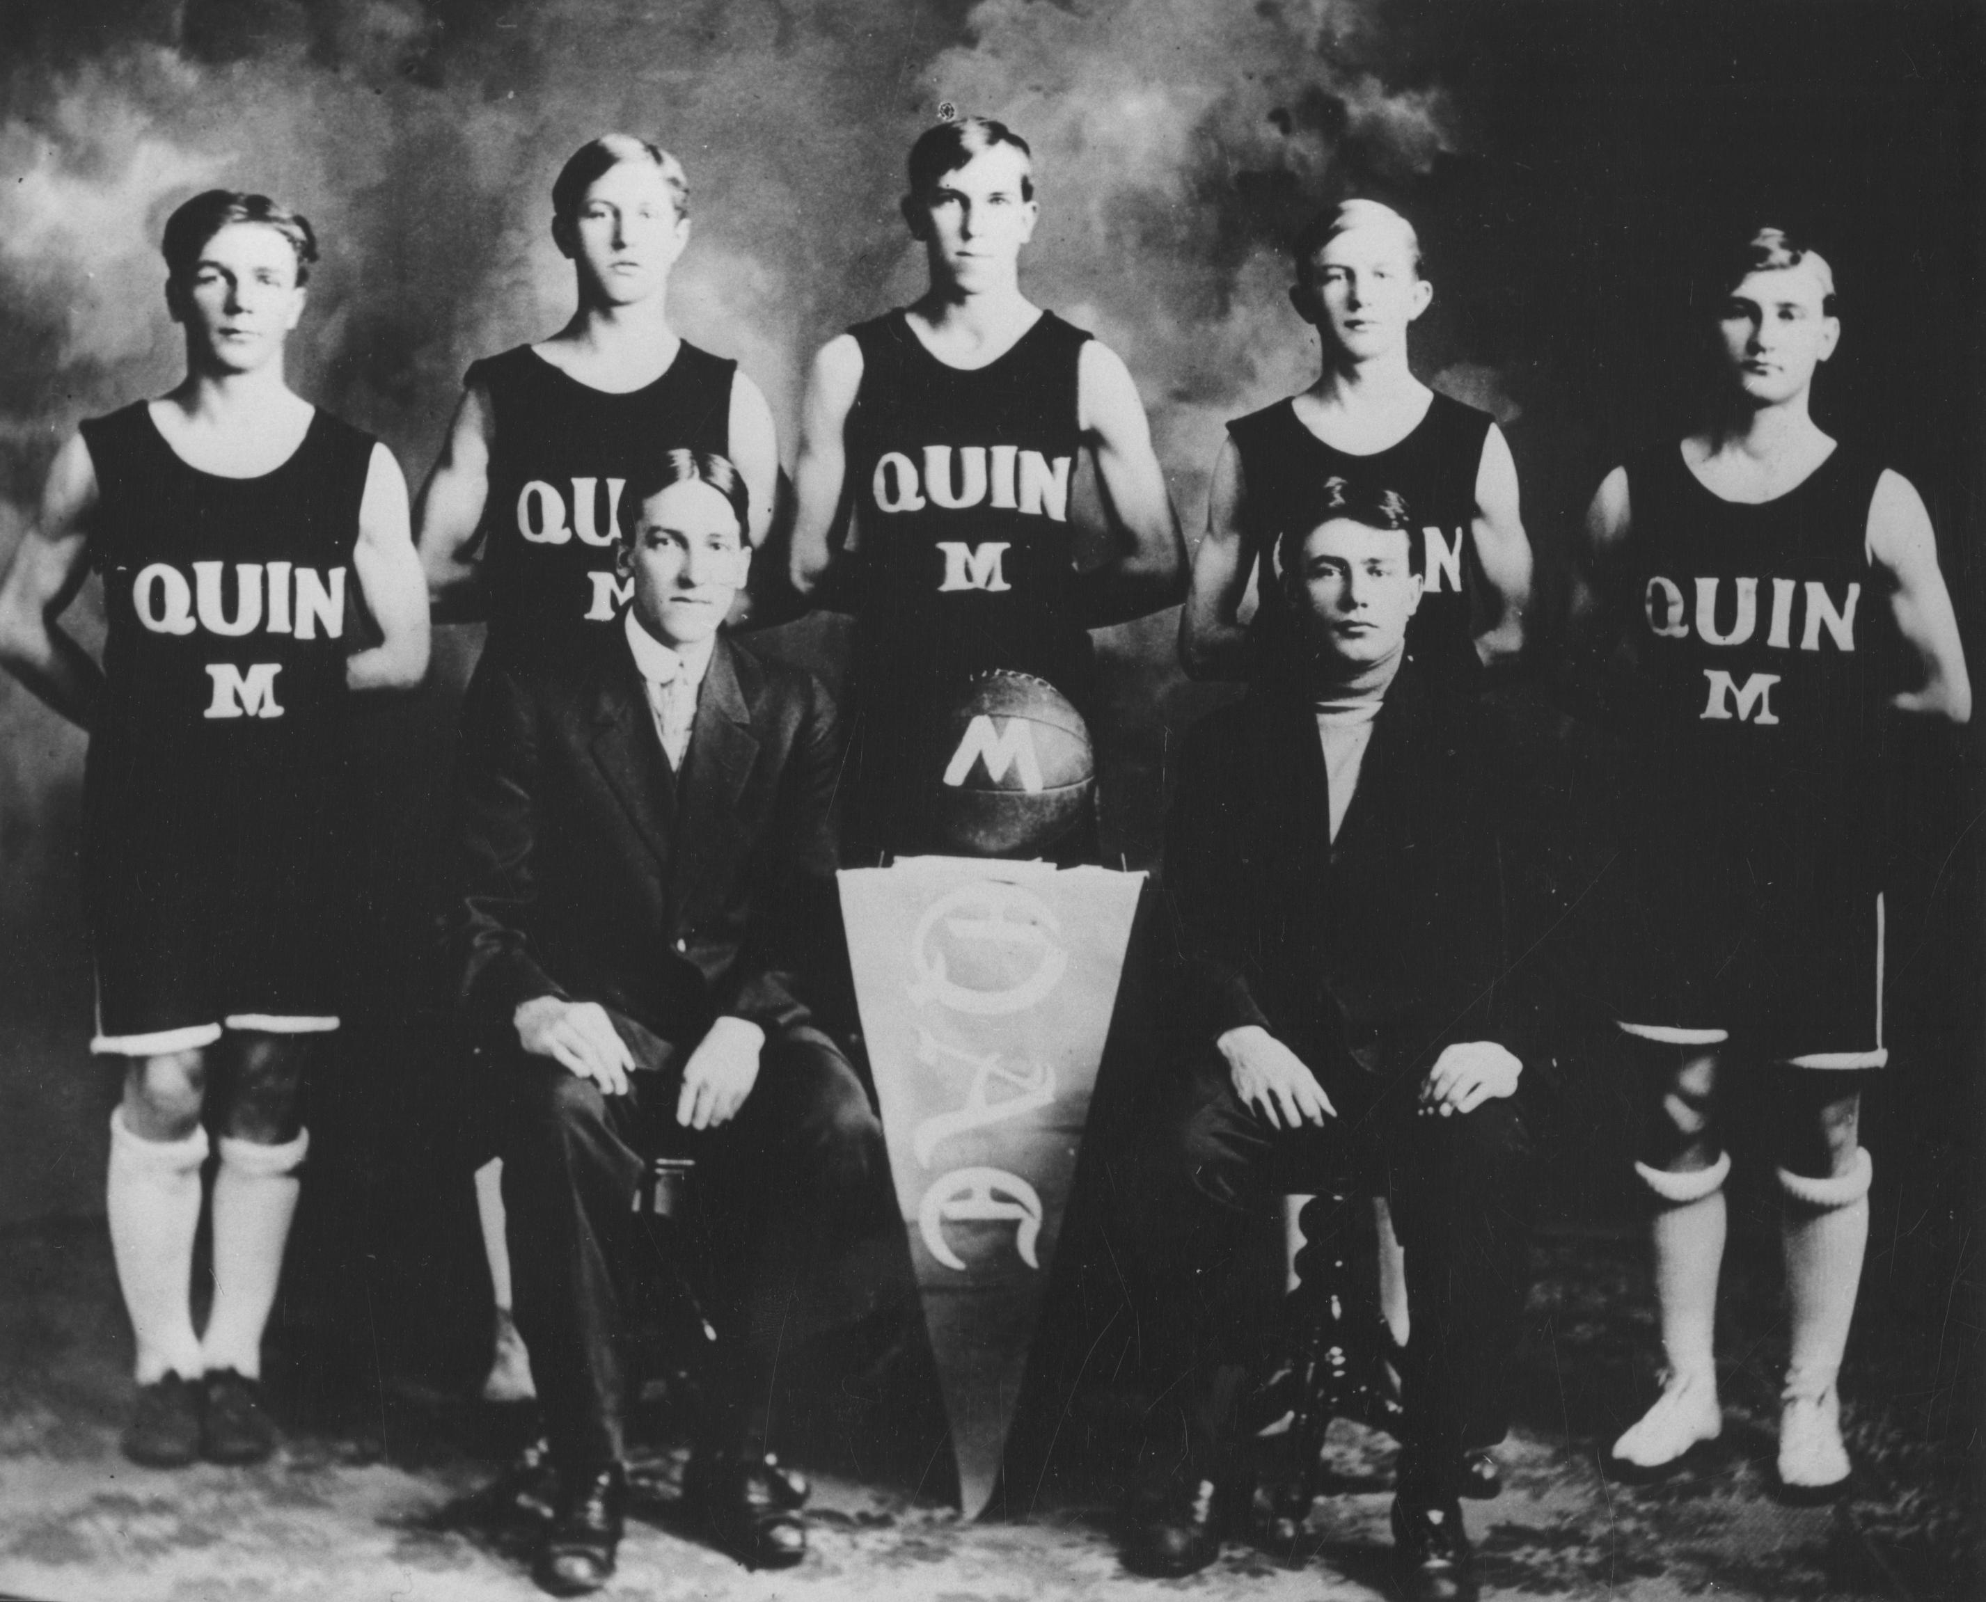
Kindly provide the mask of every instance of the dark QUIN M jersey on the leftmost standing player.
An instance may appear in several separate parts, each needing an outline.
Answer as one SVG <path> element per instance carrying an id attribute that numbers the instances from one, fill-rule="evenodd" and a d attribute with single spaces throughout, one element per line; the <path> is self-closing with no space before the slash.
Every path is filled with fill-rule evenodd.
<path id="1" fill-rule="evenodd" d="M 145 403 L 81 433 L 109 621 L 93 784 L 183 776 L 218 794 L 328 762 L 348 699 L 371 435 L 318 411 L 274 472 L 216 478 L 173 453 Z"/>

